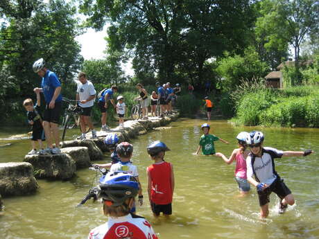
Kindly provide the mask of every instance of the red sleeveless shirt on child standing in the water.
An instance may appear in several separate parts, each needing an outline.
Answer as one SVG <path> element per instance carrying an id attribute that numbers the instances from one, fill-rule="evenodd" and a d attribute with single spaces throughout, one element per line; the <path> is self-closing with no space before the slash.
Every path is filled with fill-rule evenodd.
<path id="1" fill-rule="evenodd" d="M 154 163 L 147 168 L 150 175 L 150 200 L 155 204 L 170 204 L 173 200 L 171 184 L 171 163 L 163 161 Z"/>

